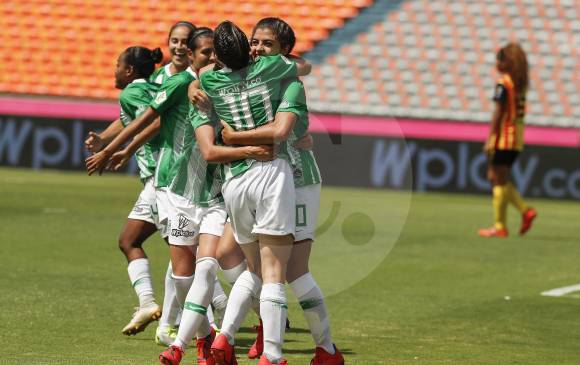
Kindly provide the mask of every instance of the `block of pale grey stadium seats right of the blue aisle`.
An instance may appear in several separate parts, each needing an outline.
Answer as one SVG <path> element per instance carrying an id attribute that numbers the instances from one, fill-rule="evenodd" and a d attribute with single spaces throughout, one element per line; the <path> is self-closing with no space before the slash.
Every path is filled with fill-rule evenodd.
<path id="1" fill-rule="evenodd" d="M 580 127 L 580 108 L 572 107 L 578 102 L 568 97 L 580 95 L 577 19 L 574 1 L 374 1 L 305 55 L 324 70 L 304 79 L 317 90 L 309 94 L 310 110 L 357 114 L 362 106 L 365 114 L 388 109 L 401 117 L 489 122 L 495 52 L 517 40 L 530 62 L 527 122 Z M 352 90 L 323 82 L 341 73 L 367 83 L 357 102 L 336 103 L 337 92 Z M 384 108 L 376 108 L 379 98 L 369 95 L 385 93 Z"/>

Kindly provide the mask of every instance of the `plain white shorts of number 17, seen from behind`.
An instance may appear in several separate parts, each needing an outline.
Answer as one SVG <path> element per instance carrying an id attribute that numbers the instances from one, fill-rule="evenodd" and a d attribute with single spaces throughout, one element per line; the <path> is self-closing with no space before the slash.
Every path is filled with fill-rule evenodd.
<path id="1" fill-rule="evenodd" d="M 294 234 L 296 193 L 288 162 L 255 161 L 222 186 L 226 209 L 239 244 L 256 242 L 258 234 Z"/>

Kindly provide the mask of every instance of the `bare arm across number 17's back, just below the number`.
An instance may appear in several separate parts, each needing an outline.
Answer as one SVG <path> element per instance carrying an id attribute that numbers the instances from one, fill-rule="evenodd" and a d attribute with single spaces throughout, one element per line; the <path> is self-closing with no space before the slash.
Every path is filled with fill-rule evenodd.
<path id="1" fill-rule="evenodd" d="M 228 145 L 274 144 L 288 139 L 298 116 L 292 112 L 278 112 L 272 123 L 247 131 L 235 131 L 222 121 L 222 138 Z"/>

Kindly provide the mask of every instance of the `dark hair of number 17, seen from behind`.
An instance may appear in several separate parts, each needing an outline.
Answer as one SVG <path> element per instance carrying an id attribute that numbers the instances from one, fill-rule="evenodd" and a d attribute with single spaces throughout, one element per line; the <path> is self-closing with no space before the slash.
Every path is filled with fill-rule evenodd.
<path id="1" fill-rule="evenodd" d="M 250 43 L 244 32 L 226 20 L 215 29 L 213 46 L 217 58 L 232 70 L 239 70 L 250 62 Z"/>

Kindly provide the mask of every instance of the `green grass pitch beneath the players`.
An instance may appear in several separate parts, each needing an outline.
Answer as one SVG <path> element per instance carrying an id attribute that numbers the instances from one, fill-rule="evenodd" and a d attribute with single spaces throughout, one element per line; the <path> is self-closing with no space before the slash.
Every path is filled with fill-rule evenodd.
<path id="1" fill-rule="evenodd" d="M 157 363 L 155 325 L 121 335 L 136 298 L 116 242 L 139 191 L 134 177 L 0 169 L 0 364 Z M 580 283 L 580 206 L 532 203 L 528 236 L 512 209 L 510 238 L 481 239 L 486 196 L 324 188 L 312 267 L 347 364 L 579 364 L 580 301 L 540 293 Z M 162 300 L 167 249 L 145 249 Z M 308 364 L 295 303 L 289 316 L 286 357 Z M 240 364 L 257 363 L 255 321 Z"/>

